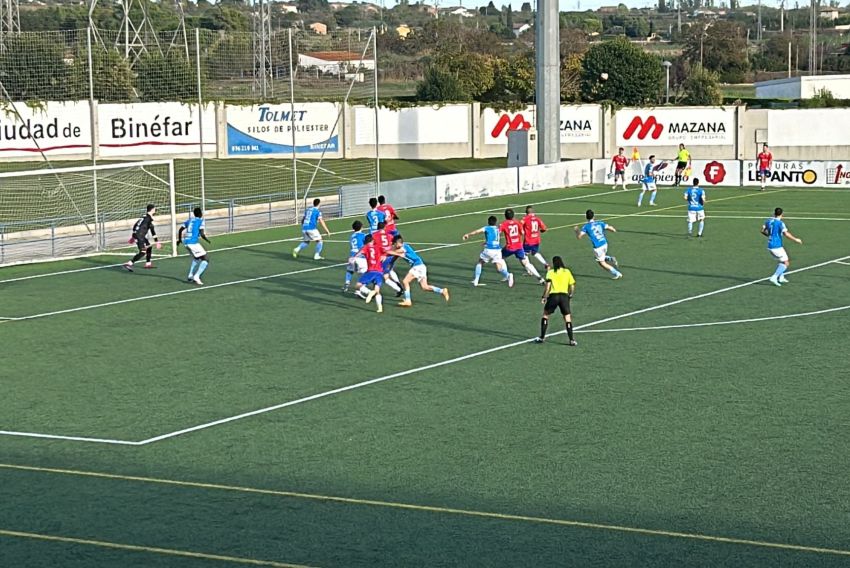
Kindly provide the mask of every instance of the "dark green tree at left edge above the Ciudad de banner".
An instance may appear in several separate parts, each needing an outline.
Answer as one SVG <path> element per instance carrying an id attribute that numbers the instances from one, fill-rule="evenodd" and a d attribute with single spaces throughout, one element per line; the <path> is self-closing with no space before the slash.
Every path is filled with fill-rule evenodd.
<path id="1" fill-rule="evenodd" d="M 42 34 L 9 35 L 0 52 L 3 85 L 15 101 L 74 98 L 65 46 Z"/>

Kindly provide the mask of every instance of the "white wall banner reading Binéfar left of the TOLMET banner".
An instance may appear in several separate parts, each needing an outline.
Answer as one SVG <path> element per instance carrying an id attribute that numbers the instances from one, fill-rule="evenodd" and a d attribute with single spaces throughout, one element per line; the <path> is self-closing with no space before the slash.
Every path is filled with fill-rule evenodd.
<path id="1" fill-rule="evenodd" d="M 202 124 L 203 123 L 203 124 Z M 197 154 L 201 128 L 204 151 L 215 152 L 215 109 L 182 103 L 99 104 L 97 136 L 101 157 Z"/>

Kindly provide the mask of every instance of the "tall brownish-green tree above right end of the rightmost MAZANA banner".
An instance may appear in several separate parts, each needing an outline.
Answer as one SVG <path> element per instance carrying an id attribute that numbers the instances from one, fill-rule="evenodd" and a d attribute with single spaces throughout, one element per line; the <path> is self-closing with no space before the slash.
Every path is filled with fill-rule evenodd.
<path id="1" fill-rule="evenodd" d="M 724 83 L 741 83 L 749 69 L 746 33 L 735 22 L 691 26 L 683 55 L 691 65 L 715 71 Z"/>

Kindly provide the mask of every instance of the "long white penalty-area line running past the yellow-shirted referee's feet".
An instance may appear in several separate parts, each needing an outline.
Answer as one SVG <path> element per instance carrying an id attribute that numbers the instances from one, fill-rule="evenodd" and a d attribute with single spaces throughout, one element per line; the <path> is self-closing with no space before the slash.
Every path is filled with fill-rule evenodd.
<path id="1" fill-rule="evenodd" d="M 818 263 L 818 264 L 813 264 L 811 266 L 805 266 L 803 268 L 798 268 L 797 270 L 789 271 L 788 274 L 797 273 L 797 272 L 804 272 L 806 270 L 812 270 L 812 269 L 815 269 L 815 268 L 820 268 L 822 266 L 826 266 L 828 264 L 832 264 L 832 263 L 837 262 L 837 261 L 846 260 L 848 258 L 850 258 L 850 256 L 840 257 L 838 259 L 833 259 L 833 260 L 830 260 L 830 261 L 821 262 L 821 263 Z M 752 280 L 750 282 L 745 282 L 743 284 L 737 284 L 735 286 L 727 286 L 726 288 L 720 288 L 718 290 L 713 290 L 711 292 L 705 292 L 703 294 L 697 294 L 695 296 L 689 296 L 687 298 L 681 298 L 679 300 L 674 300 L 672 302 L 666 302 L 664 304 L 658 304 L 656 306 L 650 306 L 648 308 L 643 308 L 643 309 L 640 309 L 640 310 L 634 310 L 634 311 L 627 312 L 627 313 L 624 313 L 624 314 L 603 318 L 603 319 L 596 320 L 596 321 L 593 321 L 593 322 L 590 322 L 590 323 L 586 323 L 584 325 L 577 326 L 574 329 L 575 329 L 575 331 L 580 331 L 582 329 L 587 329 L 587 328 L 594 327 L 594 326 L 597 326 L 597 325 L 601 325 L 603 323 L 607 323 L 607 322 L 610 322 L 610 321 L 619 320 L 619 319 L 623 319 L 623 318 L 627 318 L 627 317 L 631 317 L 631 316 L 636 316 L 636 315 L 640 315 L 640 314 L 645 314 L 647 312 L 661 310 L 661 309 L 664 309 L 664 308 L 667 308 L 667 307 L 670 307 L 670 306 L 683 304 L 685 302 L 690 302 L 690 301 L 693 301 L 693 300 L 699 300 L 701 298 L 707 298 L 709 296 L 714 296 L 716 294 L 722 294 L 724 292 L 737 290 L 737 289 L 740 289 L 740 288 L 744 288 L 746 286 L 752 286 L 753 284 L 758 284 L 759 282 L 764 282 L 766 280 L 767 280 L 767 278 L 759 278 L 758 280 Z M 559 331 L 559 332 L 556 332 L 556 333 L 552 333 L 549 336 L 551 337 L 551 336 L 554 336 L 554 335 L 561 335 L 563 333 L 565 333 L 565 331 Z M 167 440 L 169 438 L 181 436 L 183 434 L 188 434 L 190 432 L 197 432 L 199 430 L 205 430 L 207 428 L 212 428 L 213 426 L 220 426 L 222 424 L 234 422 L 236 420 L 241 420 L 243 418 L 249 418 L 251 416 L 258 416 L 260 414 L 265 414 L 265 413 L 272 412 L 272 411 L 275 411 L 275 410 L 280 410 L 282 408 L 295 406 L 297 404 L 303 404 L 305 402 L 310 402 L 310 401 L 313 401 L 313 400 L 326 398 L 326 397 L 329 397 L 329 396 L 333 396 L 333 395 L 336 395 L 336 394 L 340 394 L 340 393 L 348 392 L 348 391 L 351 391 L 351 390 L 359 389 L 359 388 L 366 387 L 366 386 L 369 386 L 369 385 L 382 383 L 382 382 L 389 381 L 389 380 L 392 380 L 392 379 L 397 379 L 397 378 L 400 378 L 400 377 L 406 377 L 408 375 L 421 373 L 423 371 L 438 369 L 440 367 L 446 367 L 448 365 L 453 365 L 455 363 L 460 363 L 462 361 L 468 361 L 470 359 L 476 359 L 476 358 L 482 357 L 484 355 L 490 355 L 491 353 L 497 353 L 499 351 L 504 351 L 506 349 L 511 349 L 513 347 L 517 347 L 519 345 L 525 345 L 527 343 L 531 343 L 532 341 L 534 341 L 534 339 L 535 338 L 532 337 L 532 338 L 529 338 L 529 339 L 514 341 L 513 343 L 506 343 L 504 345 L 499 345 L 497 347 L 491 347 L 490 349 L 485 349 L 483 351 L 476 351 L 474 353 L 468 353 L 466 355 L 461 355 L 459 357 L 454 357 L 452 359 L 446 359 L 445 361 L 439 361 L 437 363 L 431 363 L 429 365 L 424 365 L 424 366 L 421 366 L 421 367 L 408 369 L 406 371 L 400 371 L 398 373 L 393 373 L 391 375 L 386 375 L 386 376 L 383 376 L 383 377 L 378 377 L 378 378 L 375 378 L 375 379 L 362 381 L 362 382 L 359 382 L 359 383 L 355 383 L 353 385 L 348 385 L 348 386 L 328 390 L 328 391 L 325 391 L 325 392 L 306 396 L 306 397 L 299 398 L 299 399 L 296 399 L 296 400 L 290 400 L 288 402 L 283 402 L 281 404 L 275 404 L 273 406 L 267 406 L 265 408 L 252 410 L 250 412 L 244 412 L 242 414 L 237 414 L 235 416 L 229 416 L 227 418 L 221 418 L 219 420 L 214 420 L 212 422 L 199 424 L 197 426 L 192 426 L 190 428 L 184 428 L 182 430 L 176 430 L 174 432 L 169 432 L 167 434 L 161 434 L 159 436 L 154 436 L 153 438 L 148 438 L 146 440 L 142 440 L 141 442 L 138 443 L 138 445 L 146 445 L 146 444 L 152 444 L 154 442 L 160 442 L 162 440 Z"/>

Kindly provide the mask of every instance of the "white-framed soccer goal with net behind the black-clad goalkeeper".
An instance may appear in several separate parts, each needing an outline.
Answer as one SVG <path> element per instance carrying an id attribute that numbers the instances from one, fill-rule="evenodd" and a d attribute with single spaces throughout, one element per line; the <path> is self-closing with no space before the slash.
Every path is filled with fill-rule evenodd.
<path id="1" fill-rule="evenodd" d="M 173 160 L 0 173 L 0 266 L 120 253 L 148 204 L 176 255 Z"/>

